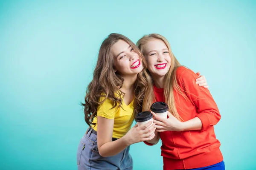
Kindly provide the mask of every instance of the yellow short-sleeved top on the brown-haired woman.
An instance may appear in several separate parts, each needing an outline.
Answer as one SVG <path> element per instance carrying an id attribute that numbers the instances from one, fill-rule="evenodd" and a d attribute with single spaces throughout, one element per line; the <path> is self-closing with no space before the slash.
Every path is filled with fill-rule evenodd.
<path id="1" fill-rule="evenodd" d="M 105 97 L 100 97 L 99 101 L 103 101 Z M 105 117 L 107 119 L 114 119 L 114 126 L 113 126 L 113 138 L 121 138 L 124 136 L 128 130 L 131 128 L 131 124 L 134 120 L 134 107 L 133 107 L 134 100 L 129 104 L 126 105 L 125 102 L 122 100 L 122 108 L 111 109 L 114 105 L 110 99 L 106 99 L 101 105 L 97 108 L 97 116 Z M 96 125 L 93 127 L 95 131 L 97 131 L 97 117 L 93 119 L 93 123 Z"/>

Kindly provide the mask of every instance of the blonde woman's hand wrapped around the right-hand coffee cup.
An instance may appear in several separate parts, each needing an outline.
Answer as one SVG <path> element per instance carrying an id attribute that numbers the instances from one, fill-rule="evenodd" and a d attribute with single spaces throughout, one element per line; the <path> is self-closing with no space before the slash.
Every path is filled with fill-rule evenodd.
<path id="1" fill-rule="evenodd" d="M 169 111 L 167 111 L 168 118 L 163 118 L 158 116 L 156 113 L 151 112 L 154 116 L 153 122 L 156 123 L 155 131 L 182 131 L 182 122 L 180 122 L 175 116 L 173 116 Z"/>

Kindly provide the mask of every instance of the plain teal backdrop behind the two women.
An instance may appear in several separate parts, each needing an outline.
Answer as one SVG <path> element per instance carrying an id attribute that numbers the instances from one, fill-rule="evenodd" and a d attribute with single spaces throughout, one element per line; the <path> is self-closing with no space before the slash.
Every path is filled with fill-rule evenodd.
<path id="1" fill-rule="evenodd" d="M 227 170 L 253 170 L 256 1 L 0 1 L 0 169 L 76 170 L 82 107 L 102 40 L 165 36 L 205 75 L 222 118 Z M 160 170 L 160 144 L 131 146 L 134 170 Z"/>

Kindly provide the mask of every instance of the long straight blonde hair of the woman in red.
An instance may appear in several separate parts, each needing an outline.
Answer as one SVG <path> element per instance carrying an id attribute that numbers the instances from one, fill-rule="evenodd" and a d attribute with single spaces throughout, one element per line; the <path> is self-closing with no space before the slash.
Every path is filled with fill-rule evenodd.
<path id="1" fill-rule="evenodd" d="M 169 50 L 169 54 L 171 57 L 171 67 L 170 67 L 169 71 L 167 72 L 167 74 L 165 75 L 164 96 L 165 96 L 165 101 L 166 101 L 167 105 L 169 106 L 169 112 L 173 116 L 175 116 L 177 119 L 179 119 L 180 121 L 183 121 L 183 119 L 180 117 L 180 115 L 177 112 L 177 108 L 175 105 L 174 93 L 176 91 L 176 93 L 181 94 L 185 99 L 187 99 L 187 97 L 186 97 L 186 94 L 183 93 L 184 90 L 180 88 L 180 86 L 178 85 L 178 82 L 177 82 L 176 70 L 181 65 L 178 62 L 178 60 L 176 59 L 176 57 L 174 56 L 174 54 L 172 53 L 172 49 L 171 49 L 169 42 L 166 40 L 165 37 L 163 37 L 160 34 L 148 34 L 148 35 L 143 36 L 140 40 L 138 40 L 137 46 L 145 56 L 145 50 L 144 50 L 145 44 L 154 39 L 162 40 L 166 44 L 166 46 Z M 148 82 L 148 88 L 145 92 L 145 97 L 144 97 L 144 101 L 143 101 L 143 111 L 150 110 L 150 106 L 155 99 L 154 91 L 153 91 L 153 79 L 150 76 L 150 72 L 148 71 L 148 69 L 146 70 L 146 73 L 147 73 L 146 79 L 150 79 L 150 81 Z"/>

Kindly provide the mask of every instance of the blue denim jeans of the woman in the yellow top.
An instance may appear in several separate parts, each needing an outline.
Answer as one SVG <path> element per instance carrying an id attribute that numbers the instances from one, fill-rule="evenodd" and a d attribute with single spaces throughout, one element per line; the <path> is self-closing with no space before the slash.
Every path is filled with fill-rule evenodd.
<path id="1" fill-rule="evenodd" d="M 97 147 L 97 135 L 92 130 L 89 127 L 79 143 L 76 154 L 78 170 L 132 170 L 130 147 L 115 156 L 102 157 Z"/>

